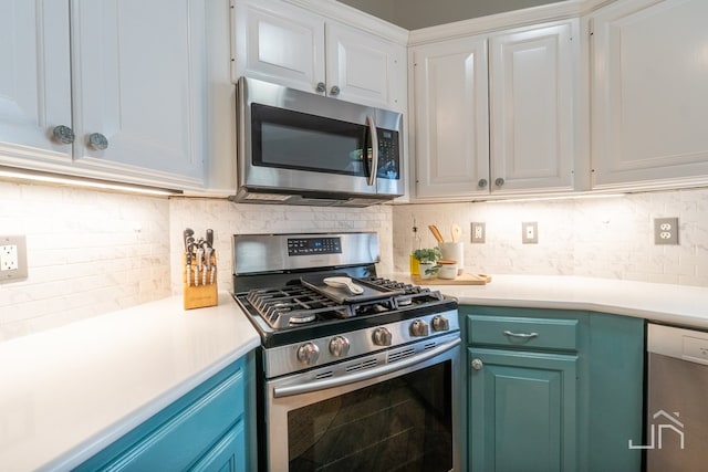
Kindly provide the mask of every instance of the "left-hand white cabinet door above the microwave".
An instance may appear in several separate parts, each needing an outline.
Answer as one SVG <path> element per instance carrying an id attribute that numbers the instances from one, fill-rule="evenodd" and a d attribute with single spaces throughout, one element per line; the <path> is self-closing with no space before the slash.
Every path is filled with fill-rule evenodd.
<path id="1" fill-rule="evenodd" d="M 280 1 L 237 1 L 236 76 L 324 92 L 324 19 Z"/>

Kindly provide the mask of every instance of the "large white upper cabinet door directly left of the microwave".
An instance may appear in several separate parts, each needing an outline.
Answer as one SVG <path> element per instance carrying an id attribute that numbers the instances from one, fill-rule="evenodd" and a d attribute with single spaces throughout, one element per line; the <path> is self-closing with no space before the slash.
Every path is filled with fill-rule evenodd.
<path id="1" fill-rule="evenodd" d="M 147 170 L 153 182 L 199 187 L 204 1 L 76 0 L 72 14 L 79 164 L 135 181 Z M 95 134 L 105 149 L 90 144 Z"/>

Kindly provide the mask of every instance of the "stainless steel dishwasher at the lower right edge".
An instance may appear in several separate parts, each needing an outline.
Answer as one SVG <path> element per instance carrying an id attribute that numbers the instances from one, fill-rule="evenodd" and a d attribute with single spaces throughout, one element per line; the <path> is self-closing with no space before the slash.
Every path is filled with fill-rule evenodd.
<path id="1" fill-rule="evenodd" d="M 708 332 L 649 324 L 646 470 L 708 466 Z"/>

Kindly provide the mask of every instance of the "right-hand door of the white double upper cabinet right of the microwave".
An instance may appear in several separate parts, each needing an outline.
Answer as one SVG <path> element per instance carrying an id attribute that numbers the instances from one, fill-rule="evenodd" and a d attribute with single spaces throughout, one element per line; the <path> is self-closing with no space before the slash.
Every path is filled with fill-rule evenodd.
<path id="1" fill-rule="evenodd" d="M 573 189 L 579 25 L 489 40 L 492 193 Z"/>

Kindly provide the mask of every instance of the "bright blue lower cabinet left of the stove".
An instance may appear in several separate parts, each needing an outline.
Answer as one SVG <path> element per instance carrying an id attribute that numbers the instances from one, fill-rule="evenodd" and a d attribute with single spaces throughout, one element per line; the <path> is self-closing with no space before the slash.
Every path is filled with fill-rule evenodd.
<path id="1" fill-rule="evenodd" d="M 249 468 L 251 355 L 159 411 L 77 471 L 225 471 Z M 252 410 L 252 409 L 250 409 Z"/>

